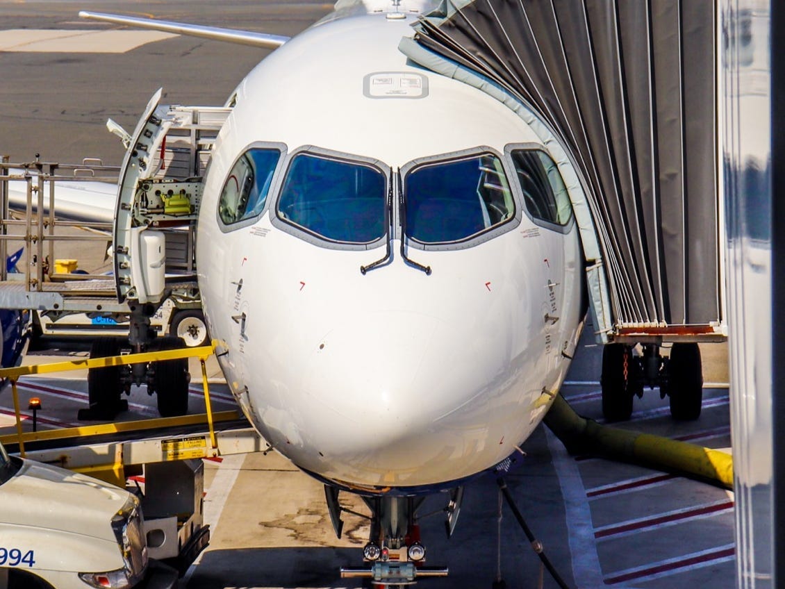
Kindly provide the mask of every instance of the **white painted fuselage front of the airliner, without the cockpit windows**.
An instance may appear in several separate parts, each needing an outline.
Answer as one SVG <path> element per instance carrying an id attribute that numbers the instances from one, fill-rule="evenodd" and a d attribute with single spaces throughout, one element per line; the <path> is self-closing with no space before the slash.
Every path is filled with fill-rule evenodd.
<path id="1" fill-rule="evenodd" d="M 548 151 L 500 102 L 407 65 L 397 46 L 409 24 L 384 13 L 331 20 L 254 68 L 232 99 L 199 217 L 204 311 L 235 397 L 277 451 L 355 488 L 442 485 L 505 459 L 550 406 L 579 329 L 575 223 L 537 225 L 520 197 L 510 229 L 491 239 L 408 247 L 430 276 L 403 261 L 397 238 L 392 261 L 363 275 L 383 240 L 323 247 L 272 221 L 281 170 L 305 146 L 393 171 L 480 147 Z M 375 96 L 368 75 L 380 72 L 370 80 L 414 74 L 427 91 Z M 285 155 L 264 212 L 221 225 L 235 161 L 272 144 Z"/>

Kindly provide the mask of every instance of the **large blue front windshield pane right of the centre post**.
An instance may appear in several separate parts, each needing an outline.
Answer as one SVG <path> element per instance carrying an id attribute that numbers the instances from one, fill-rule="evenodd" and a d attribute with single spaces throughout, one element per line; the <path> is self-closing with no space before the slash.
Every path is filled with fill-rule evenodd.
<path id="1" fill-rule="evenodd" d="M 406 232 L 420 243 L 449 243 L 515 215 L 502 160 L 484 153 L 415 167 L 404 180 Z"/>

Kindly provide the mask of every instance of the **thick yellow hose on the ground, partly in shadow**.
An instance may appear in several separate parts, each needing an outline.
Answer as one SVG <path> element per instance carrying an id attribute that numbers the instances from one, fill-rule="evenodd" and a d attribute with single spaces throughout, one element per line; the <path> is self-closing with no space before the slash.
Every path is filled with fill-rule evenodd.
<path id="1" fill-rule="evenodd" d="M 602 426 L 575 413 L 557 395 L 544 419 L 569 452 L 595 454 L 733 488 L 733 458 L 726 452 L 667 437 Z"/>

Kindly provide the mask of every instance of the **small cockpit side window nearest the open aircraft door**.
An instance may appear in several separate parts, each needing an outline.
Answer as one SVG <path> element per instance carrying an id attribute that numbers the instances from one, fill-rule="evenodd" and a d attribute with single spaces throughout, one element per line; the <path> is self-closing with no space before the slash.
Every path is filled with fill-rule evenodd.
<path id="1" fill-rule="evenodd" d="M 229 172 L 218 201 L 221 221 L 231 225 L 261 213 L 280 156 L 278 149 L 269 148 L 249 149 L 240 156 Z"/>

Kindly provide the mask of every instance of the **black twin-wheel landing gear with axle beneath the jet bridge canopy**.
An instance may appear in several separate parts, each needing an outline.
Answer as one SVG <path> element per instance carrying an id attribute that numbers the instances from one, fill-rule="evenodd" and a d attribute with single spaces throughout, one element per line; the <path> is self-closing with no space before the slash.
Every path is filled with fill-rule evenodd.
<path id="1" fill-rule="evenodd" d="M 703 366 L 698 344 L 674 343 L 670 357 L 656 344 L 607 344 L 602 353 L 602 412 L 609 421 L 630 419 L 633 398 L 643 397 L 646 386 L 659 386 L 661 398 L 670 397 L 670 415 L 680 421 L 698 419 L 703 402 Z"/>

